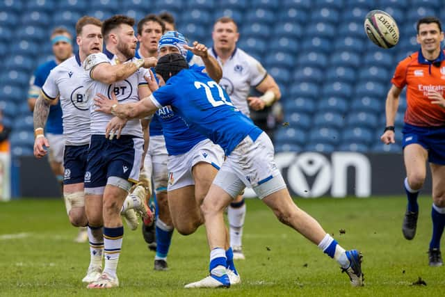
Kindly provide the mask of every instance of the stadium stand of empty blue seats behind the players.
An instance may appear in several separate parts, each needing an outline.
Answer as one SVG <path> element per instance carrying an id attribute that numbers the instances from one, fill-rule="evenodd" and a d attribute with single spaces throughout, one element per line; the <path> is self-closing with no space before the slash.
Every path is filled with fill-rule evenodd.
<path id="1" fill-rule="evenodd" d="M 289 126 L 277 129 L 277 152 L 400 152 L 400 142 L 385 146 L 378 137 L 385 125 L 389 79 L 396 63 L 417 50 L 416 19 L 438 13 L 444 17 L 442 4 L 442 0 L 1 0 L 0 109 L 13 123 L 13 155 L 32 154 L 26 88 L 35 67 L 51 55 L 51 29 L 65 26 L 74 33 L 76 20 L 86 14 L 103 19 L 127 13 L 140 19 L 162 10 L 175 15 L 188 40 L 202 40 L 208 46 L 216 18 L 227 15 L 238 22 L 238 46 L 259 58 L 282 86 L 284 121 Z M 398 22 L 401 40 L 393 49 L 379 49 L 366 38 L 363 19 L 375 8 L 386 10 Z M 402 95 L 396 120 L 399 141 L 405 109 Z"/>

